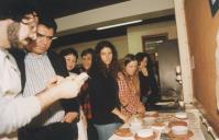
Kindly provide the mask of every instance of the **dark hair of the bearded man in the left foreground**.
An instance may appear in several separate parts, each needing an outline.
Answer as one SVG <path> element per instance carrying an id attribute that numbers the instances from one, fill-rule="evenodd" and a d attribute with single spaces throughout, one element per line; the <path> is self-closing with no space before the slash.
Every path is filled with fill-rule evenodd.
<path id="1" fill-rule="evenodd" d="M 30 0 L 6 0 L 1 2 L 0 5 L 0 20 L 11 19 L 15 22 L 21 22 L 24 15 L 33 12 L 40 13 L 34 3 L 30 2 Z"/>

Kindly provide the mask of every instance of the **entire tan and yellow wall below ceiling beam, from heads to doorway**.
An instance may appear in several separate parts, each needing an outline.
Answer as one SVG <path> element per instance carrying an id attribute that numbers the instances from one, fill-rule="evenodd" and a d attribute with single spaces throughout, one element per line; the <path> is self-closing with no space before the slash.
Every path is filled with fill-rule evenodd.
<path id="1" fill-rule="evenodd" d="M 127 36 L 119 36 L 112 38 L 106 38 L 110 40 L 118 50 L 119 59 L 123 58 L 128 52 L 139 52 L 142 51 L 142 36 L 143 35 L 155 35 L 161 33 L 168 33 L 168 38 L 177 38 L 175 22 L 162 22 L 149 25 L 141 25 L 128 28 Z M 80 43 L 69 46 L 63 46 L 62 48 L 56 48 L 56 51 L 61 49 L 73 47 L 78 54 L 80 54 L 86 48 L 95 48 L 99 40 Z M 80 59 L 78 59 L 80 62 Z"/>

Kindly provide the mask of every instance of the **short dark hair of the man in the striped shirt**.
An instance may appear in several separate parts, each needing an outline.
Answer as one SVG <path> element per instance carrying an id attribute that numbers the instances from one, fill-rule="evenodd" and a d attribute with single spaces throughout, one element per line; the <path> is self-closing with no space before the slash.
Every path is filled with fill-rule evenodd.
<path id="1" fill-rule="evenodd" d="M 56 24 L 56 22 L 55 22 L 55 19 L 54 19 L 54 18 L 51 18 L 51 16 L 48 16 L 48 15 L 40 14 L 40 15 L 39 15 L 39 24 L 45 25 L 45 26 L 48 27 L 48 28 L 53 28 L 54 34 L 55 34 L 56 31 L 57 31 L 57 24 Z"/>

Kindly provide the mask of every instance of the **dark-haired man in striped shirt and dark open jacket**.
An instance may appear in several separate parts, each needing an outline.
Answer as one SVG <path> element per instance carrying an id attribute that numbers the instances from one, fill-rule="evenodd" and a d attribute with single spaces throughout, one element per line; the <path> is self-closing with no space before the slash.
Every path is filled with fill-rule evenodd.
<path id="1" fill-rule="evenodd" d="M 17 59 L 23 81 L 23 96 L 35 95 L 37 91 L 45 89 L 47 81 L 56 74 L 68 75 L 63 59 L 50 49 L 56 28 L 57 25 L 54 19 L 40 16 L 36 39 L 26 46 L 28 52 L 25 56 Z M 17 58 L 18 54 L 14 57 Z M 76 98 L 56 102 L 22 128 L 19 131 L 19 139 L 73 140 L 77 136 L 77 126 L 76 124 L 65 122 L 65 119 L 72 121 L 76 119 L 75 114 L 78 114 L 78 108 Z M 73 126 L 73 128 L 69 126 Z"/>

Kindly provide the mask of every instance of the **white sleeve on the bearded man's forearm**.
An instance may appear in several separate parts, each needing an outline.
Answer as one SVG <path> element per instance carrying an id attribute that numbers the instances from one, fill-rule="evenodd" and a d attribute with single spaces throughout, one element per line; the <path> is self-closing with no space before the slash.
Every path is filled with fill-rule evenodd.
<path id="1" fill-rule="evenodd" d="M 0 97 L 0 135 L 10 133 L 25 126 L 41 113 L 41 105 L 35 96 Z"/>

